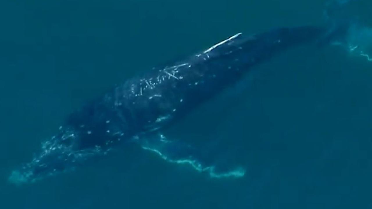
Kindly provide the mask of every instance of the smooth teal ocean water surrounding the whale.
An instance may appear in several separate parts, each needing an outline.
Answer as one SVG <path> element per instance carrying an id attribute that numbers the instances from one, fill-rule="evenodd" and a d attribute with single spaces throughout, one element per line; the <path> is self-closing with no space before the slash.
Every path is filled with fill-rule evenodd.
<path id="1" fill-rule="evenodd" d="M 1 209 L 372 208 L 372 62 L 300 46 L 190 113 L 167 136 L 247 168 L 211 179 L 136 147 L 33 184 L 7 179 L 68 113 L 154 65 L 238 32 L 324 23 L 323 0 L 0 1 Z M 372 2 L 360 0 L 372 25 Z"/>

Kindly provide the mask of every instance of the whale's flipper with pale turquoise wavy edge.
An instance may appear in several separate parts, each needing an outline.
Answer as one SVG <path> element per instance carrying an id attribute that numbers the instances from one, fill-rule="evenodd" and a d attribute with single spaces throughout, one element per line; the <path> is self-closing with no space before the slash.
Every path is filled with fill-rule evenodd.
<path id="1" fill-rule="evenodd" d="M 189 164 L 199 172 L 208 173 L 214 178 L 243 177 L 245 170 L 241 167 L 230 167 L 226 163 L 218 163 L 211 159 L 209 154 L 203 154 L 183 141 L 171 141 L 163 134 L 145 137 L 140 141 L 145 150 L 155 152 L 169 163 Z"/>

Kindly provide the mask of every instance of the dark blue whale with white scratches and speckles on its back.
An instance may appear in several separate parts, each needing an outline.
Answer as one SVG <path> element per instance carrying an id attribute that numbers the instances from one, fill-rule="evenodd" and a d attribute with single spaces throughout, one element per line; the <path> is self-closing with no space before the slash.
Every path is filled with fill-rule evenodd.
<path id="1" fill-rule="evenodd" d="M 68 116 L 59 132 L 42 144 L 39 155 L 13 171 L 9 180 L 33 182 L 68 171 L 112 149 L 125 149 L 123 142 L 128 141 L 139 142 L 165 160 L 189 163 L 199 171 L 208 170 L 213 176 L 212 165 L 193 153 L 180 155 L 183 151 L 178 152 L 163 135 L 155 142 L 144 138 L 158 135 L 240 80 L 254 65 L 289 47 L 310 43 L 323 33 L 323 28 L 313 26 L 278 28 L 247 36 L 238 33 L 184 60 L 126 80 Z M 173 158 L 167 156 L 170 149 L 174 151 L 169 155 Z"/>

